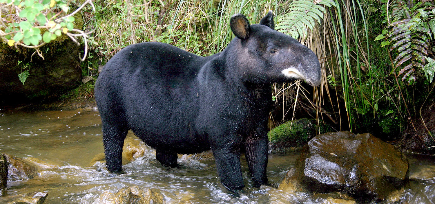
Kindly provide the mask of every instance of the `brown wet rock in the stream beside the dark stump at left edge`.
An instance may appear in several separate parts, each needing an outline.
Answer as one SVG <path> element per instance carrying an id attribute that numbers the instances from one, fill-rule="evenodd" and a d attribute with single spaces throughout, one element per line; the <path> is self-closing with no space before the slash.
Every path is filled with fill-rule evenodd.
<path id="1" fill-rule="evenodd" d="M 21 158 L 4 153 L 8 161 L 8 181 L 28 180 L 38 175 L 37 166 Z"/>

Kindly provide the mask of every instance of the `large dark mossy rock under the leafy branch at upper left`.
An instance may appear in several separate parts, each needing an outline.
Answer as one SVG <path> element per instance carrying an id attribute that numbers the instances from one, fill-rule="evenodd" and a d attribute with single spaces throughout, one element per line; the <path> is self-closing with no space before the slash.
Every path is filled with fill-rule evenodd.
<path id="1" fill-rule="evenodd" d="M 82 17 L 77 13 L 75 18 L 74 27 L 82 29 Z M 56 98 L 82 84 L 81 51 L 82 47 L 66 35 L 40 48 L 44 59 L 33 54 L 34 49 L 15 48 L 0 41 L 0 106 Z M 18 64 L 18 61 L 22 63 Z M 29 70 L 30 76 L 22 84 L 18 74 L 24 69 Z"/>

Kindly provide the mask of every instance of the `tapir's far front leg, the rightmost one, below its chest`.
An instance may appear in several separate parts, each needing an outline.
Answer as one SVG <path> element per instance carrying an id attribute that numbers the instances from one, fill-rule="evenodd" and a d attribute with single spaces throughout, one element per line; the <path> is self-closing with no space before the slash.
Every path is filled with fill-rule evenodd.
<path id="1" fill-rule="evenodd" d="M 269 140 L 263 126 L 250 132 L 245 141 L 245 157 L 248 161 L 249 173 L 254 181 L 253 186 L 258 188 L 266 184 L 266 167 L 268 165 Z"/>

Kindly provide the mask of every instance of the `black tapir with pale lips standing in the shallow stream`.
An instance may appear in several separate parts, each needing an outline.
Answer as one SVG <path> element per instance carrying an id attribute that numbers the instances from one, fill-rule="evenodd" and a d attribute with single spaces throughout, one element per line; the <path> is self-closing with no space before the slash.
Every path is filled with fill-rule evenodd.
<path id="1" fill-rule="evenodd" d="M 234 38 L 221 53 L 201 57 L 157 42 L 130 45 L 104 66 L 95 84 L 109 171 L 121 171 L 130 129 L 156 150 L 164 166 L 177 154 L 211 149 L 222 184 L 243 188 L 240 152 L 253 186 L 268 182 L 268 115 L 271 83 L 320 84 L 317 56 L 296 39 L 274 30 L 271 11 L 250 25 L 230 20 Z"/>

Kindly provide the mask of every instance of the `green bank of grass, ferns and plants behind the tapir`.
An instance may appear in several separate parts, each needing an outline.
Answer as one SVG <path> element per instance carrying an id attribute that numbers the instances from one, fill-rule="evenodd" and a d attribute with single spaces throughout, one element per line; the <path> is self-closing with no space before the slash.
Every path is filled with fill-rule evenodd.
<path id="1" fill-rule="evenodd" d="M 274 125 L 311 117 L 336 130 L 394 140 L 422 109 L 434 105 L 432 0 L 92 2 L 95 11 L 90 5 L 81 10 L 84 30 L 95 30 L 88 38 L 85 75 L 96 78 L 98 67 L 120 49 L 145 41 L 169 43 L 201 56 L 218 53 L 234 37 L 228 25 L 234 13 L 258 23 L 273 10 L 276 29 L 312 49 L 323 74 L 321 87 L 315 89 L 300 82 L 272 86 L 282 112 L 279 117 L 271 113 Z"/>

